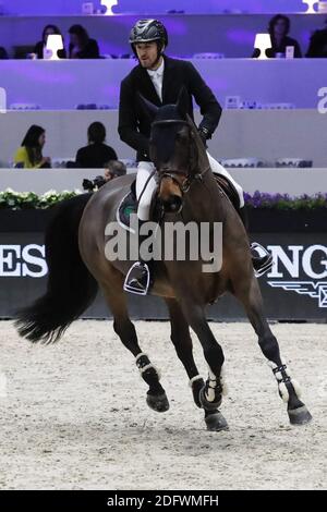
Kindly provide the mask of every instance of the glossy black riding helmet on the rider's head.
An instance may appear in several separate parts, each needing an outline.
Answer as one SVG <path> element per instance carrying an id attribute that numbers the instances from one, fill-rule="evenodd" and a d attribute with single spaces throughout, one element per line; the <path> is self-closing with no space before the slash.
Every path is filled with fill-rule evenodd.
<path id="1" fill-rule="evenodd" d="M 160 56 L 164 47 L 168 46 L 166 27 L 158 20 L 138 20 L 130 34 L 130 44 L 134 54 L 137 57 L 134 45 L 150 41 L 157 41 L 158 53 Z"/>

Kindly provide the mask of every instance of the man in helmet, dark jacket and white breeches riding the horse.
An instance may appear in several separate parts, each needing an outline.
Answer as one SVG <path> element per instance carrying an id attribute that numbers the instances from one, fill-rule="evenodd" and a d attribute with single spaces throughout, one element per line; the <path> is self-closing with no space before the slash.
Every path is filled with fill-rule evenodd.
<path id="1" fill-rule="evenodd" d="M 150 202 L 157 184 L 154 176 L 148 180 L 154 171 L 149 158 L 150 119 L 136 95 L 141 93 L 144 98 L 161 107 L 175 103 L 179 92 L 184 86 L 190 96 L 189 114 L 192 119 L 192 96 L 201 108 L 203 119 L 198 133 L 205 146 L 219 123 L 221 107 L 191 62 L 171 59 L 164 53 L 168 46 L 168 34 L 161 22 L 140 20 L 131 31 L 130 44 L 138 64 L 121 83 L 118 131 L 120 138 L 137 151 L 137 216 L 141 221 L 146 221 L 149 219 Z M 220 163 L 207 155 L 213 172 L 226 176 L 237 190 L 239 214 L 246 224 L 242 187 Z M 259 244 L 252 244 L 251 248 L 254 270 L 256 276 L 262 276 L 271 268 L 272 257 Z M 124 288 L 134 293 L 146 294 L 149 282 L 148 266 L 144 261 L 137 261 L 131 268 Z"/>

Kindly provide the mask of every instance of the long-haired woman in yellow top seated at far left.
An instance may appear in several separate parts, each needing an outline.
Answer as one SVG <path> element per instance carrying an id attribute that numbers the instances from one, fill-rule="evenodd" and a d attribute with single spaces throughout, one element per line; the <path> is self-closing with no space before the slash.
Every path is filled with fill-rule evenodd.
<path id="1" fill-rule="evenodd" d="M 43 147 L 46 143 L 46 131 L 41 126 L 33 124 L 14 156 L 16 168 L 45 169 L 51 167 L 49 157 L 43 156 Z"/>

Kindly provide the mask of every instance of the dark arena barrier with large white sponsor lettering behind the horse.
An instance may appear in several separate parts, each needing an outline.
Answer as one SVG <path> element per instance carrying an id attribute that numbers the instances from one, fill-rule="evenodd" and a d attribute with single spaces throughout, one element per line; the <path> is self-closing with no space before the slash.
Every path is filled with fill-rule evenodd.
<path id="1" fill-rule="evenodd" d="M 17 215 L 17 214 L 16 214 Z M 20 212 L 19 216 L 23 216 Z M 271 214 L 274 215 L 274 214 Z M 0 211 L 0 225 L 5 214 Z M 43 217 L 36 214 L 38 222 L 29 214 L 28 221 L 12 223 L 20 231 L 10 231 L 9 219 L 0 228 L 0 318 L 12 317 L 17 307 L 26 305 L 45 291 L 47 268 L 44 260 Z M 326 219 L 326 212 L 324 214 Z M 253 233 L 252 239 L 269 247 L 274 255 L 272 270 L 261 278 L 259 283 L 265 301 L 268 318 L 279 320 L 320 320 L 327 318 L 327 235 L 326 232 L 312 232 L 305 228 L 296 229 L 295 217 L 291 214 L 279 215 L 279 219 L 270 219 L 269 232 Z M 317 219 L 322 212 L 317 212 Z M 295 231 L 287 232 L 293 220 Z M 294 222 L 295 221 L 295 222 Z M 38 232 L 33 231 L 39 224 Z M 269 219 L 261 222 L 259 211 L 252 216 L 255 230 L 269 225 Z M 4 229 L 5 225 L 5 229 Z M 24 225 L 25 232 L 22 231 Z M 303 224 L 304 225 L 304 224 Z M 314 225 L 314 224 L 312 224 Z M 21 227 L 21 228 L 19 228 Z M 269 229 L 269 228 L 268 228 Z M 279 229 L 279 231 L 278 231 Z M 36 258 L 36 259 L 33 259 Z M 134 318 L 165 319 L 167 309 L 158 297 L 130 297 L 131 314 Z M 84 314 L 88 318 L 110 316 L 108 308 L 99 295 L 96 302 Z M 217 304 L 208 307 L 208 318 L 215 320 L 243 319 L 243 309 L 234 297 L 225 296 Z"/>

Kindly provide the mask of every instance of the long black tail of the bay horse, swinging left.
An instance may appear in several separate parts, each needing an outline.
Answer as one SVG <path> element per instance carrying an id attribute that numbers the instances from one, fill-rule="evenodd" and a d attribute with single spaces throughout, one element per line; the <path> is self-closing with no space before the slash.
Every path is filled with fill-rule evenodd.
<path id="1" fill-rule="evenodd" d="M 16 314 L 15 325 L 32 342 L 53 343 L 82 315 L 97 294 L 97 282 L 78 249 L 78 225 L 92 194 L 58 205 L 46 231 L 48 283 L 45 295 Z"/>

